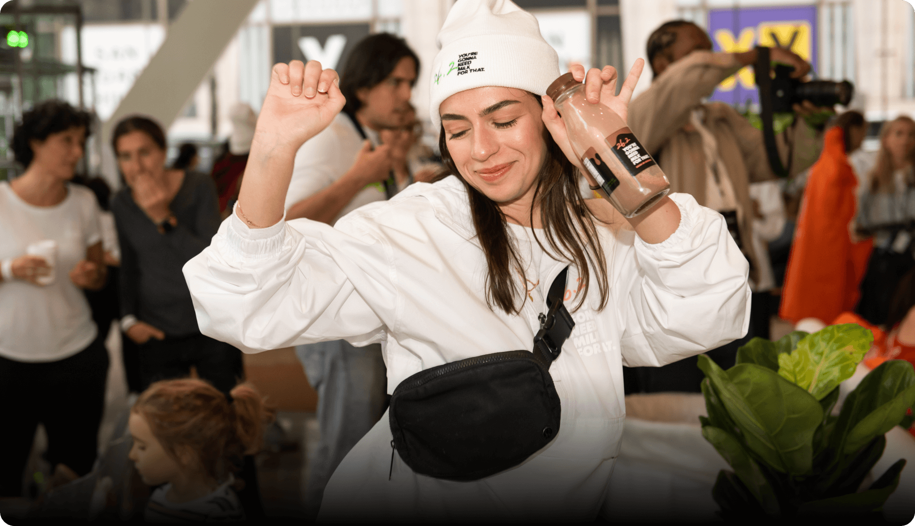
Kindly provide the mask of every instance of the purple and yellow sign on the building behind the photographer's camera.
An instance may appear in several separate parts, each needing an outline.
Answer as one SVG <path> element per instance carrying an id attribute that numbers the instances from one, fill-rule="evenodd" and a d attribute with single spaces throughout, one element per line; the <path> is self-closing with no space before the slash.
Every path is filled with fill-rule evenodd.
<path id="1" fill-rule="evenodd" d="M 816 6 L 740 7 L 708 12 L 708 34 L 716 51 L 739 53 L 756 46 L 790 48 L 816 70 Z M 713 101 L 728 104 L 759 103 L 751 67 L 728 77 L 712 94 Z"/>

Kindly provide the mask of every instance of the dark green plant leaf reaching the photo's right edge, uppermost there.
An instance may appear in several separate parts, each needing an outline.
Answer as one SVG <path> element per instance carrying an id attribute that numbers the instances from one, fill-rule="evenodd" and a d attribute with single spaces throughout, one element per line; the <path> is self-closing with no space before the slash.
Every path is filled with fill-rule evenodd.
<path id="1" fill-rule="evenodd" d="M 915 370 L 906 360 L 888 360 L 849 392 L 835 423 L 830 445 L 848 455 L 883 435 L 915 403 Z"/>

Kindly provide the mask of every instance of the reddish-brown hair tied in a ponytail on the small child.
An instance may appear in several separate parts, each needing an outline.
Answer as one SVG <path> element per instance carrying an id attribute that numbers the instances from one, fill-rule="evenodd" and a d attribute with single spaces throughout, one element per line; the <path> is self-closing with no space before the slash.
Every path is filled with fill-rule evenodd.
<path id="1" fill-rule="evenodd" d="M 178 459 L 178 447 L 186 446 L 210 478 L 221 480 L 243 455 L 260 450 L 264 424 L 274 417 L 250 384 L 236 385 L 231 398 L 199 379 L 156 381 L 131 413 L 144 417 L 169 456 Z"/>

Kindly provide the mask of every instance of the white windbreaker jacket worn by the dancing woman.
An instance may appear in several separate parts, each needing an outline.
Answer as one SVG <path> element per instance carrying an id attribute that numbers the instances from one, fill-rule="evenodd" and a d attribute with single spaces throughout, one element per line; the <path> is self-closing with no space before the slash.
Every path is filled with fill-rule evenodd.
<path id="1" fill-rule="evenodd" d="M 553 442 L 489 478 L 446 481 L 416 475 L 393 455 L 385 416 L 330 479 L 319 519 L 593 520 L 624 424 L 622 366 L 681 360 L 748 328 L 748 263 L 724 219 L 689 195 L 671 197 L 682 219 L 665 242 L 642 242 L 628 223 L 598 226 L 609 302 L 597 311 L 592 284 L 550 369 L 562 402 Z M 490 310 L 467 192 L 447 177 L 354 210 L 333 228 L 292 220 L 249 230 L 232 214 L 184 274 L 204 334 L 245 352 L 381 342 L 390 393 L 420 370 L 533 349 L 545 291 L 566 264 L 544 256 L 534 270 L 543 292 L 520 315 Z M 570 310 L 576 276 L 570 268 Z"/>

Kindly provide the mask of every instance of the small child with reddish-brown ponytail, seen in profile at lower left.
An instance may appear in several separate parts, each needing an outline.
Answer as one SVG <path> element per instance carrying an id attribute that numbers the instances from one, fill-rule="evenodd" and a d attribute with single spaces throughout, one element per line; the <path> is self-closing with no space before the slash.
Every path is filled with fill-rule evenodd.
<path id="1" fill-rule="evenodd" d="M 150 385 L 129 421 L 130 459 L 145 484 L 159 486 L 145 520 L 244 521 L 232 473 L 243 455 L 260 449 L 272 418 L 250 384 L 235 386 L 228 396 L 197 379 Z"/>

